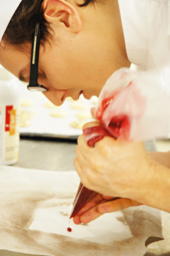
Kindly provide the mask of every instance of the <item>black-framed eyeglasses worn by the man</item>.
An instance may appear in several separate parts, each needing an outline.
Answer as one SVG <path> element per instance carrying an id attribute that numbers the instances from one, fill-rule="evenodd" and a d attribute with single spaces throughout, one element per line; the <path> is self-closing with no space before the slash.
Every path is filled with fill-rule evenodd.
<path id="1" fill-rule="evenodd" d="M 39 72 L 39 49 L 40 49 L 40 24 L 36 24 L 35 34 L 32 40 L 31 50 L 31 67 L 29 75 L 29 85 L 27 89 L 29 91 L 47 91 L 43 85 L 38 83 Z"/>

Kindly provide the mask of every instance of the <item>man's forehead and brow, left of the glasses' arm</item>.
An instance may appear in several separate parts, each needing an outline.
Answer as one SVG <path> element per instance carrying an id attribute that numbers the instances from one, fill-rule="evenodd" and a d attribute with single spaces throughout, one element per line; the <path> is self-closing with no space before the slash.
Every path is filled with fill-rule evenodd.
<path id="1" fill-rule="evenodd" d="M 1 43 L 0 64 L 18 77 L 20 69 L 29 65 L 31 58 L 31 44 L 24 44 L 21 47 Z"/>

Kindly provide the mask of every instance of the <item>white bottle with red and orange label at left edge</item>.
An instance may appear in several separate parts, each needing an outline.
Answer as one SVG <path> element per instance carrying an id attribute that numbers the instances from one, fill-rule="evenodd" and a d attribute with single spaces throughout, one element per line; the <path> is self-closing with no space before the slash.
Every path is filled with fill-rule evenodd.
<path id="1" fill-rule="evenodd" d="M 17 80 L 0 66 L 0 165 L 14 165 L 19 156 L 20 93 Z"/>

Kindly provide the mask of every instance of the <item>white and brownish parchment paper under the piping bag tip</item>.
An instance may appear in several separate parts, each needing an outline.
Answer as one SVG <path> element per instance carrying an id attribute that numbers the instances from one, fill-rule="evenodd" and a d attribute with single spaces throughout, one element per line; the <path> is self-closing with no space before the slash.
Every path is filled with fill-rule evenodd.
<path id="1" fill-rule="evenodd" d="M 160 211 L 144 205 L 76 226 L 69 215 L 78 184 L 75 171 L 0 166 L 0 249 L 52 256 L 142 256 L 148 237 L 162 238 Z"/>

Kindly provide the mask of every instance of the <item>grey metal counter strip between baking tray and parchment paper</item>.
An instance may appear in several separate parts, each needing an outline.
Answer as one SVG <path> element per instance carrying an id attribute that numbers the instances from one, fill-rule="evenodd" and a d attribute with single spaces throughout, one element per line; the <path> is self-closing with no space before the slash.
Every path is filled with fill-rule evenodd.
<path id="1" fill-rule="evenodd" d="M 22 137 L 19 161 L 14 166 L 52 171 L 75 170 L 75 147 L 76 140 Z"/>

